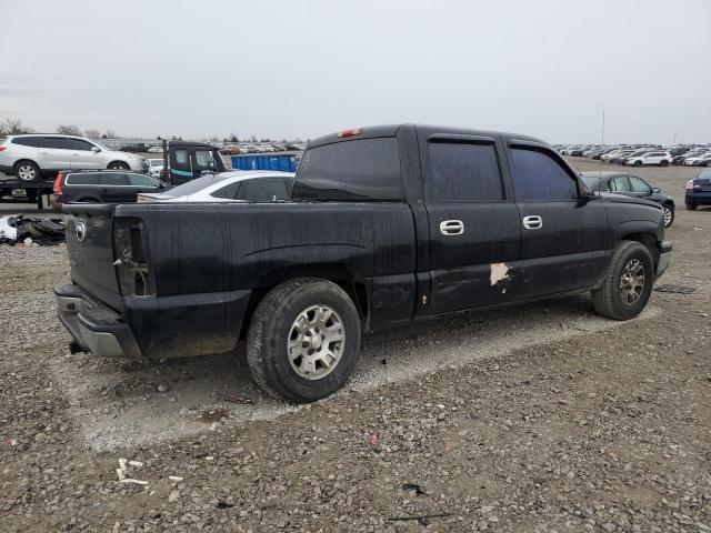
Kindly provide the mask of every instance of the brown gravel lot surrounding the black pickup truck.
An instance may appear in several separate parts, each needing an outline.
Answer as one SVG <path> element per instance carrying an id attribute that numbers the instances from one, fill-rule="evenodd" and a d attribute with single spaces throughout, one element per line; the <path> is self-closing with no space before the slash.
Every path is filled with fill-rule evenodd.
<path id="1" fill-rule="evenodd" d="M 697 172 L 638 173 L 679 201 Z M 568 298 L 373 335 L 301 409 L 241 348 L 70 355 L 64 247 L 0 247 L 0 530 L 711 532 L 710 233 L 681 204 L 663 283 L 697 292 L 634 321 Z"/>

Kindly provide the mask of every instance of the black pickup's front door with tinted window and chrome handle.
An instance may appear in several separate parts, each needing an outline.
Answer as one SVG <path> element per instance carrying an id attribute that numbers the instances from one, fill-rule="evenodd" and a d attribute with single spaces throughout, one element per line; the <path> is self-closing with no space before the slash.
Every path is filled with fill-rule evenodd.
<path id="1" fill-rule="evenodd" d="M 610 257 L 607 211 L 574 171 L 538 143 L 510 150 L 511 178 L 522 224 L 522 294 L 587 289 Z"/>

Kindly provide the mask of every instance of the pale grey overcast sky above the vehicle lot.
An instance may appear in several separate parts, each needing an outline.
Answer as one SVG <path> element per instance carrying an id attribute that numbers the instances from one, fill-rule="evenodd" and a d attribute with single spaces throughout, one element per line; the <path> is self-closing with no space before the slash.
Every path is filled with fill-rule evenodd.
<path id="1" fill-rule="evenodd" d="M 0 0 L 0 119 L 42 131 L 711 142 L 709 0 Z"/>

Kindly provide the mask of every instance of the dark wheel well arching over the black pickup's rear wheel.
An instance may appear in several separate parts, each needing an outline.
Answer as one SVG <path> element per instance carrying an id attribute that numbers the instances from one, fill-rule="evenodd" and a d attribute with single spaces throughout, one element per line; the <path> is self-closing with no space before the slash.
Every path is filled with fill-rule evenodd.
<path id="1" fill-rule="evenodd" d="M 318 265 L 316 268 L 297 268 L 288 271 L 274 273 L 270 275 L 264 282 L 260 283 L 260 286 L 252 290 L 250 294 L 247 309 L 244 310 L 244 316 L 247 320 L 242 321 L 242 328 L 240 331 L 240 339 L 247 338 L 251 316 L 259 305 L 259 302 L 271 291 L 274 286 L 296 278 L 313 278 L 320 280 L 327 280 L 339 285 L 353 301 L 358 315 L 364 326 L 368 325 L 368 319 L 370 316 L 370 305 L 368 300 L 368 288 L 364 280 L 358 280 L 351 274 L 344 266 L 339 265 Z"/>

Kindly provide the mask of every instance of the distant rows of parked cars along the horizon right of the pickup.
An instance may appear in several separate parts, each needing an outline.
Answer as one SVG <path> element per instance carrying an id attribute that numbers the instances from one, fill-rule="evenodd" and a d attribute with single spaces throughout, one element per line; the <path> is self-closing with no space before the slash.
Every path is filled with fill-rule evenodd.
<path id="1" fill-rule="evenodd" d="M 557 144 L 562 155 L 599 159 L 609 163 L 641 167 L 655 164 L 684 164 L 688 167 L 711 167 L 709 144 Z"/>

